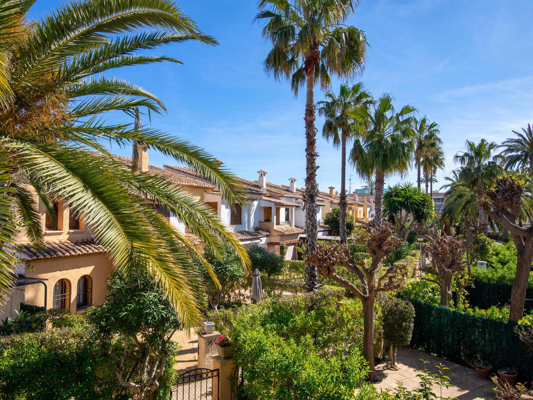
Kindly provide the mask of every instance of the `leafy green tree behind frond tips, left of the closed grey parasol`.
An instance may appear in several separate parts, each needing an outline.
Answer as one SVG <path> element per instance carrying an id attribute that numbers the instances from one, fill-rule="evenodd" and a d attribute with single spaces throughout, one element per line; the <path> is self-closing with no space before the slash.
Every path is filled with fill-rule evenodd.
<path id="1" fill-rule="evenodd" d="M 221 255 L 222 259 L 209 249 L 204 252 L 204 258 L 211 265 L 216 278 L 209 269 L 206 269 L 201 262 L 198 262 L 198 267 L 205 282 L 207 301 L 209 301 L 214 310 L 218 309 L 222 300 L 228 298 L 235 285 L 246 280 L 243 263 L 235 249 L 231 245 L 225 244 Z"/>

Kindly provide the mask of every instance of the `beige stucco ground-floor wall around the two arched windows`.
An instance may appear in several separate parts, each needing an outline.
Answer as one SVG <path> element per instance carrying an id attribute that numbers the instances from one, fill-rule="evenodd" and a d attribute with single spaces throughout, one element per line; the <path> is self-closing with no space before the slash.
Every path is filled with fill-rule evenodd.
<path id="1" fill-rule="evenodd" d="M 59 279 L 67 279 L 70 282 L 70 312 L 72 314 L 83 313 L 76 311 L 76 290 L 78 279 L 83 275 L 89 275 L 92 279 L 92 304 L 101 304 L 106 295 L 106 281 L 113 269 L 112 262 L 106 254 L 62 257 L 52 260 L 31 261 L 29 264 L 33 270 L 27 269 L 26 276 L 32 278 L 45 278 L 47 286 L 47 307 L 53 307 L 54 285 Z M 44 306 L 44 286 L 40 283 L 19 286 L 25 291 L 26 303 L 35 306 Z M 14 316 L 13 310 L 19 310 L 22 295 L 15 290 L 13 298 L 8 299 L 0 308 L 0 316 Z M 17 296 L 17 298 L 15 298 Z M 5 318 L 5 317 L 4 317 Z"/>

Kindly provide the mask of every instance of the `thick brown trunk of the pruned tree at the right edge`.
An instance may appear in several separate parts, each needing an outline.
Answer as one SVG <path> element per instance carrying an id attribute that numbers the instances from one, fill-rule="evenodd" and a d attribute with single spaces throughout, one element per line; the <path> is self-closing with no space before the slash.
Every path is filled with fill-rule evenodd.
<path id="1" fill-rule="evenodd" d="M 515 237 L 518 241 L 522 241 L 522 238 L 517 235 L 513 235 L 513 240 Z M 514 242 L 516 244 L 516 240 Z M 516 273 L 511 289 L 509 321 L 518 321 L 524 315 L 524 302 L 526 301 L 529 273 L 533 261 L 533 243 L 531 242 L 533 242 L 533 238 L 528 238 L 526 244 L 519 243 L 516 246 L 518 260 L 516 260 Z"/>

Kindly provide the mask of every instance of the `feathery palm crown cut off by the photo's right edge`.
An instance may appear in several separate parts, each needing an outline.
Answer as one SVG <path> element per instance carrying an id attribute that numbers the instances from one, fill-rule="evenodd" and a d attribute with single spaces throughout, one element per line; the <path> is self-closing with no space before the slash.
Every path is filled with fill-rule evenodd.
<path id="1" fill-rule="evenodd" d="M 502 143 L 502 155 L 506 158 L 505 169 L 518 167 L 522 173 L 533 178 L 533 130 L 531 124 L 522 132 L 512 131 L 517 137 L 506 139 Z"/>

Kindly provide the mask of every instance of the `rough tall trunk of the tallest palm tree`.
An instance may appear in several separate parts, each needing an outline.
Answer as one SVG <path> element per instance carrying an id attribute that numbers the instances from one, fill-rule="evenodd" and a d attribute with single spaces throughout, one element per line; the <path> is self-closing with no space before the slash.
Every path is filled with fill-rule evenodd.
<path id="1" fill-rule="evenodd" d="M 317 248 L 317 132 L 314 122 L 317 118 L 314 106 L 314 67 L 320 53 L 318 45 L 310 51 L 311 57 L 306 57 L 305 71 L 307 78 L 307 95 L 305 99 L 305 191 L 303 201 L 305 205 L 305 255 L 313 254 Z M 318 54 L 318 55 L 317 55 Z M 317 267 L 310 262 L 305 263 L 305 289 L 308 292 L 318 290 Z"/>

